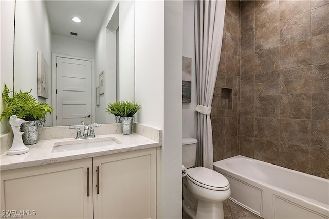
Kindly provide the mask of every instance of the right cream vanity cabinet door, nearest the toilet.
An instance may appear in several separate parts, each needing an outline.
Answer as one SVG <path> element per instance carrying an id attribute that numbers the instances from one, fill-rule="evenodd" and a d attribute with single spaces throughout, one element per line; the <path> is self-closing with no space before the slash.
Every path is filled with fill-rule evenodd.
<path id="1" fill-rule="evenodd" d="M 94 218 L 156 218 L 156 148 L 95 157 L 93 171 Z"/>

